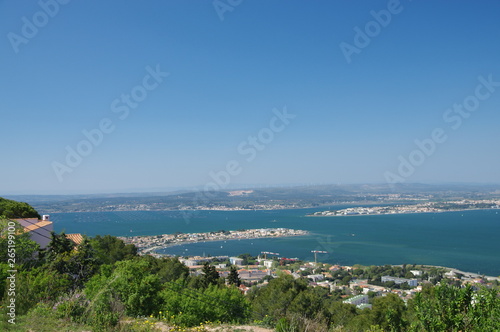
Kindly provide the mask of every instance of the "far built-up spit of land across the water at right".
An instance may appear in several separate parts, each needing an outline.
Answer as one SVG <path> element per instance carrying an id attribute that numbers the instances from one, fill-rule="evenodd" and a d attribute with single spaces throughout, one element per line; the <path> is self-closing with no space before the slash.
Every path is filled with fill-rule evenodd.
<path id="1" fill-rule="evenodd" d="M 310 217 L 403 214 L 403 213 L 437 213 L 449 211 L 465 211 L 477 209 L 500 209 L 500 200 L 457 200 L 447 202 L 426 202 L 409 205 L 351 207 L 340 210 L 319 211 L 309 214 Z"/>

